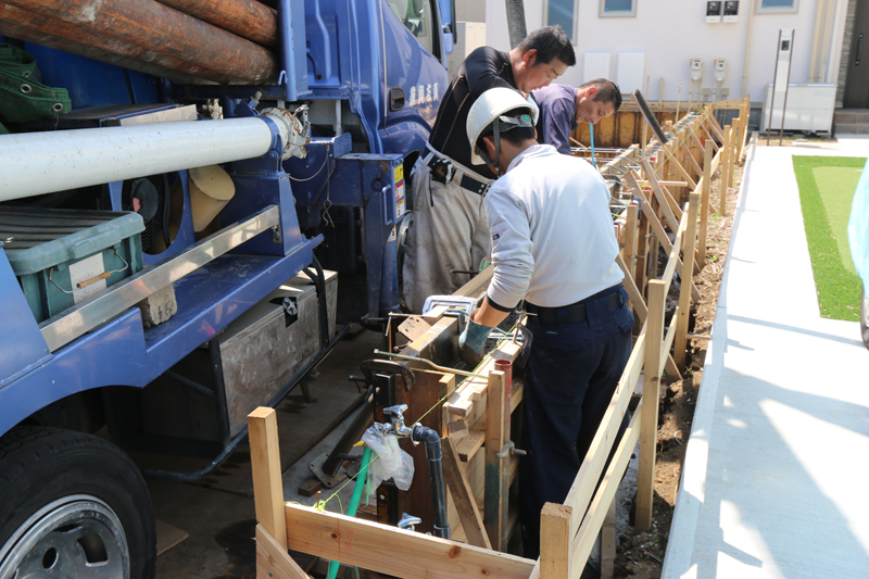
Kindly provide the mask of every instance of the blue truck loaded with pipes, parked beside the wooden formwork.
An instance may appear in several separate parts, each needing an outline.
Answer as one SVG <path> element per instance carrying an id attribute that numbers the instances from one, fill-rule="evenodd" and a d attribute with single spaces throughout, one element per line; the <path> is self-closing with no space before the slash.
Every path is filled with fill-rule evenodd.
<path id="1" fill-rule="evenodd" d="M 279 74 L 247 83 L 118 55 L 133 40 L 95 28 L 114 4 L 167 3 L 2 9 L 0 88 L 51 111 L 0 102 L 2 579 L 152 577 L 127 451 L 213 458 L 151 473 L 204 476 L 248 412 L 323 360 L 336 320 L 400 309 L 405 176 L 446 89 L 451 1 L 272 2 Z"/>

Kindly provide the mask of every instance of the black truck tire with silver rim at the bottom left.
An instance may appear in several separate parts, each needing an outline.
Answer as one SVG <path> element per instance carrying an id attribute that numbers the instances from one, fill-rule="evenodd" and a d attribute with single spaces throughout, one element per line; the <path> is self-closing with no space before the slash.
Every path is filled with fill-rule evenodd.
<path id="1" fill-rule="evenodd" d="M 154 516 L 138 468 L 81 432 L 0 438 L 0 578 L 151 579 Z"/>

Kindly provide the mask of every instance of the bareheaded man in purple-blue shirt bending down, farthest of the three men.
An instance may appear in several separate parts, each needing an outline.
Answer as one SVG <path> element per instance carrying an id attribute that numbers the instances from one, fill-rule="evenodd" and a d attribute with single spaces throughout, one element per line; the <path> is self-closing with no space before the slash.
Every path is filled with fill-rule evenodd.
<path id="1" fill-rule="evenodd" d="M 579 123 L 595 124 L 621 105 L 621 90 L 606 78 L 595 78 L 574 88 L 550 85 L 531 91 L 540 108 L 537 138 L 559 153 L 570 154 L 570 134 Z"/>

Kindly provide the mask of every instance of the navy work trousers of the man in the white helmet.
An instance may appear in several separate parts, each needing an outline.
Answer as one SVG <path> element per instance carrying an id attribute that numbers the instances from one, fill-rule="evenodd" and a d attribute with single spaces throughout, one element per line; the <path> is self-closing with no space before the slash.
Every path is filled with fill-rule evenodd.
<path id="1" fill-rule="evenodd" d="M 529 316 L 533 335 L 526 368 L 525 415 L 519 463 L 519 517 L 525 556 L 540 555 L 540 512 L 563 503 L 591 445 L 631 353 L 633 316 L 627 305 L 610 310 L 606 295 L 583 300 L 587 319 L 556 324 Z M 564 309 L 559 309 L 564 310 Z M 622 428 L 626 424 L 622 424 Z"/>

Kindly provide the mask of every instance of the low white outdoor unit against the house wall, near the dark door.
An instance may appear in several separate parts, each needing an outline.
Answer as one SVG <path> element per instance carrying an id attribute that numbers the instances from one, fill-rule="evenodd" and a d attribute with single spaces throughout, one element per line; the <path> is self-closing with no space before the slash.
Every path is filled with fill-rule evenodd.
<path id="1" fill-rule="evenodd" d="M 806 133 L 829 133 L 833 126 L 835 109 L 835 85 L 788 85 L 788 106 L 784 112 L 784 130 Z M 772 121 L 769 119 L 772 85 L 764 90 L 764 110 L 760 115 L 760 130 L 779 130 L 784 99 L 781 93 L 772 103 Z"/>

